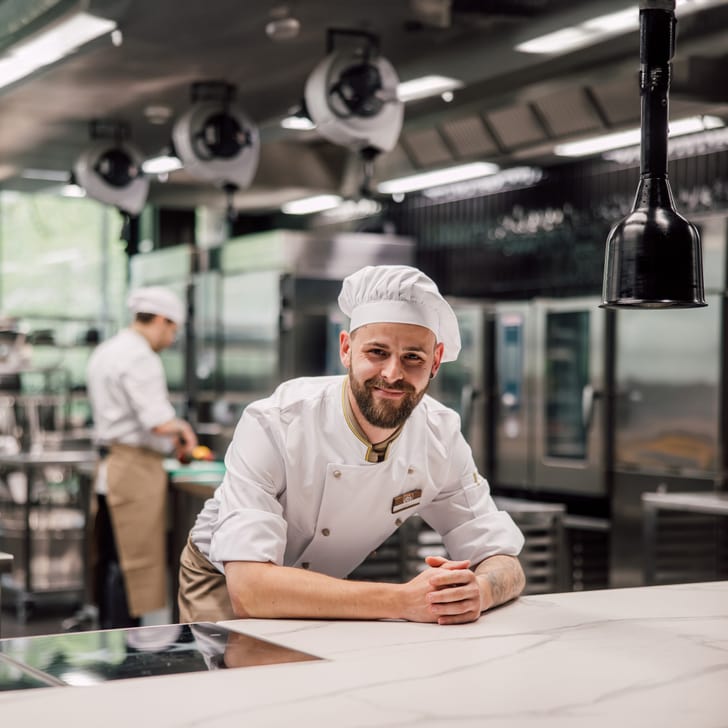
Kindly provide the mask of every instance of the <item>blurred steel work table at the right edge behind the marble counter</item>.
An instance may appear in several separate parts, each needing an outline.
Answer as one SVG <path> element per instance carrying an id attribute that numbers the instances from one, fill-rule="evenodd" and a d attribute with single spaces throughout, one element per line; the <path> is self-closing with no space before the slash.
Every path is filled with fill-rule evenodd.
<path id="1" fill-rule="evenodd" d="M 657 580 L 658 529 L 660 511 L 728 516 L 728 493 L 643 493 L 642 525 L 644 539 L 644 578 L 646 584 Z M 679 545 L 675 545 L 679 548 Z"/>

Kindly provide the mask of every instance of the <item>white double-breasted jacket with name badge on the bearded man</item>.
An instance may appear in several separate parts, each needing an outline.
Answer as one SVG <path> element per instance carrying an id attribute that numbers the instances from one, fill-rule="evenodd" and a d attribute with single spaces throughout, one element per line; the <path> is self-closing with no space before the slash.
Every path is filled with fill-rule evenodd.
<path id="1" fill-rule="evenodd" d="M 458 415 L 429 396 L 381 463 L 344 419 L 345 377 L 294 379 L 245 409 L 192 529 L 215 566 L 271 561 L 347 576 L 417 513 L 453 559 L 516 555 L 523 535 L 476 470 Z M 397 496 L 421 490 L 403 510 Z"/>

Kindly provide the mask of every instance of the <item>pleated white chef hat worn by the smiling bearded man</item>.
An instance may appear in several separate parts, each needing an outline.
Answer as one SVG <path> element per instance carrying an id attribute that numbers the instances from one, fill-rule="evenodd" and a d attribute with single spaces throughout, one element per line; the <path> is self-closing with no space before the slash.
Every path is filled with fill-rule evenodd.
<path id="1" fill-rule="evenodd" d="M 417 324 L 430 329 L 444 344 L 442 361 L 455 361 L 460 330 L 450 304 L 435 282 L 408 265 L 361 268 L 344 279 L 339 307 L 351 320 L 349 330 L 364 324 Z"/>

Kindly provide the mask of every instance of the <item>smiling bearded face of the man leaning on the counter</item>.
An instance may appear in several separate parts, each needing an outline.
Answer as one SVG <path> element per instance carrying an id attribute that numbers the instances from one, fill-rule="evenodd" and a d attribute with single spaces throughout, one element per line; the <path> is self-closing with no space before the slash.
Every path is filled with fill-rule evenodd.
<path id="1" fill-rule="evenodd" d="M 443 346 L 423 326 L 391 323 L 343 331 L 339 343 L 354 412 L 371 441 L 379 442 L 422 399 L 440 367 Z"/>

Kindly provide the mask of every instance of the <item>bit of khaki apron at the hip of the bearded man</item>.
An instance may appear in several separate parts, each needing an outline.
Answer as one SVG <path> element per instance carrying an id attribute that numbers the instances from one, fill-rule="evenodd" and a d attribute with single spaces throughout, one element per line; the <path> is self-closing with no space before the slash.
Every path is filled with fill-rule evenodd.
<path id="1" fill-rule="evenodd" d="M 236 619 L 230 596 L 221 574 L 187 539 L 179 560 L 180 622 L 219 622 Z"/>

